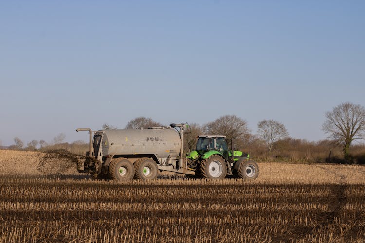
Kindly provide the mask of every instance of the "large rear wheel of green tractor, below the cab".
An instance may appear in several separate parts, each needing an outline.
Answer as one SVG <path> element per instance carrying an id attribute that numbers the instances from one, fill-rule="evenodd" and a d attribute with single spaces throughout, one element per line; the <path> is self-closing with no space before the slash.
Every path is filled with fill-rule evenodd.
<path id="1" fill-rule="evenodd" d="M 199 171 L 204 179 L 223 179 L 227 174 L 226 161 L 218 155 L 210 156 L 201 161 Z"/>

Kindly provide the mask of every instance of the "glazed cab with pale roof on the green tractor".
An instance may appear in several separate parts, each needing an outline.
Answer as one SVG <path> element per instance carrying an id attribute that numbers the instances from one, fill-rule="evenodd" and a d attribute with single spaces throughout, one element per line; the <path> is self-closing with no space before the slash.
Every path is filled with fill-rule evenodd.
<path id="1" fill-rule="evenodd" d="M 203 155 L 210 150 L 219 151 L 226 159 L 228 158 L 228 146 L 226 136 L 221 135 L 201 135 L 198 136 L 196 151 Z"/>

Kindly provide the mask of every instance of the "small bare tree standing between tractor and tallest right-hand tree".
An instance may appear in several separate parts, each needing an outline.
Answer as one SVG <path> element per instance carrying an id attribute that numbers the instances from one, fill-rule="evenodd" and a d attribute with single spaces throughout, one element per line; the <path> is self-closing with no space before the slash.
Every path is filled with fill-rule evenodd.
<path id="1" fill-rule="evenodd" d="M 269 148 L 269 153 L 273 149 L 274 142 L 285 139 L 289 136 L 285 126 L 274 120 L 262 120 L 257 124 L 257 133 L 265 141 Z"/>

